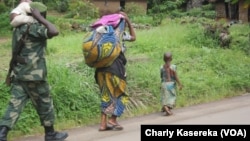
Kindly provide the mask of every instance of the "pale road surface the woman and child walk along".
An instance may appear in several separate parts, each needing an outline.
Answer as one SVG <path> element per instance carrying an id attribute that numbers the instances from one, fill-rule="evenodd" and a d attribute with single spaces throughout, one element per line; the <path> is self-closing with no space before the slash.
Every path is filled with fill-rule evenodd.
<path id="1" fill-rule="evenodd" d="M 142 124 L 248 124 L 250 125 L 250 94 L 221 101 L 173 110 L 174 115 L 153 113 L 120 121 L 123 131 L 98 131 L 98 125 L 68 130 L 66 141 L 140 141 Z M 15 141 L 44 141 L 43 136 L 25 137 Z"/>

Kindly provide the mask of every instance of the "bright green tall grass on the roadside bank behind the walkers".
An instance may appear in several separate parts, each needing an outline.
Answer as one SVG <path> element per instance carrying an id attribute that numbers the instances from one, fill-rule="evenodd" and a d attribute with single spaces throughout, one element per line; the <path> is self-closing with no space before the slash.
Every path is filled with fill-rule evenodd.
<path id="1" fill-rule="evenodd" d="M 235 34 L 237 30 L 232 28 Z M 181 24 L 167 19 L 159 27 L 136 30 L 136 33 L 137 40 L 127 43 L 130 103 L 123 118 L 160 110 L 160 66 L 166 51 L 173 53 L 173 63 L 184 85 L 178 91 L 177 108 L 249 92 L 250 57 L 236 47 L 220 48 L 216 41 L 204 35 L 201 24 Z M 48 41 L 48 79 L 59 128 L 99 122 L 99 90 L 94 69 L 84 64 L 82 55 L 85 34 L 70 33 Z M 8 88 L 0 85 L 0 92 L 1 99 L 5 99 L 0 105 L 5 107 Z M 1 108 L 1 115 L 4 110 Z M 40 126 L 35 119 L 37 115 L 29 103 L 13 130 L 15 135 L 20 131 L 34 133 L 32 129 Z"/>

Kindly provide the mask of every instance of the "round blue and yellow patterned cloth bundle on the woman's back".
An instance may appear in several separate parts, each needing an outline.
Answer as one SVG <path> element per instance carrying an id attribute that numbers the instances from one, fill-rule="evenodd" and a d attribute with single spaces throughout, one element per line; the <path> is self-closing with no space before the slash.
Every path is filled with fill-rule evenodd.
<path id="1" fill-rule="evenodd" d="M 85 63 L 94 68 L 110 66 L 122 51 L 124 30 L 124 19 L 115 28 L 105 25 L 93 29 L 83 42 Z"/>

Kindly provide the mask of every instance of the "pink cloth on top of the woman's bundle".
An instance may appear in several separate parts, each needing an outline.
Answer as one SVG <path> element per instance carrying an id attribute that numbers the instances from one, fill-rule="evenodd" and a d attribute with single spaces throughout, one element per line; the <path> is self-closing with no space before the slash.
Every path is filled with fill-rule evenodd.
<path id="1" fill-rule="evenodd" d="M 111 25 L 116 27 L 119 24 L 121 18 L 124 18 L 122 14 L 105 15 L 102 16 L 101 19 L 97 20 L 91 27 L 97 28 L 102 25 Z"/>

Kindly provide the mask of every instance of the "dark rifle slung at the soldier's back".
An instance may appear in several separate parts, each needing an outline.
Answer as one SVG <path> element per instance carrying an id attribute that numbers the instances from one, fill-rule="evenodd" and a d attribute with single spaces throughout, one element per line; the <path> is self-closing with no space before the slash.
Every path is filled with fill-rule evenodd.
<path id="1" fill-rule="evenodd" d="M 12 72 L 13 68 L 15 67 L 15 65 L 17 63 L 26 64 L 26 62 L 27 62 L 24 58 L 20 57 L 19 54 L 24 46 L 24 40 L 26 39 L 26 35 L 28 34 L 28 31 L 29 31 L 29 25 L 27 27 L 25 34 L 23 34 L 21 39 L 18 40 L 16 47 L 12 51 L 12 58 L 11 58 L 10 64 L 9 64 L 8 74 L 5 78 L 5 84 L 7 86 L 10 86 L 12 83 L 13 76 L 11 76 L 11 72 Z"/>

